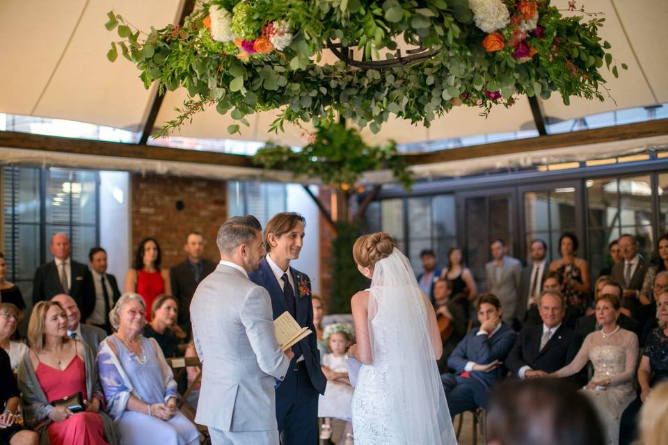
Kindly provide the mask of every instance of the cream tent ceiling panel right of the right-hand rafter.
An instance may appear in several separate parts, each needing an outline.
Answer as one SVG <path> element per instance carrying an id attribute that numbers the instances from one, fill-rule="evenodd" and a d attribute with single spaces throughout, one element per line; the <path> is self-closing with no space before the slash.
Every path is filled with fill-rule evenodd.
<path id="1" fill-rule="evenodd" d="M 668 30 L 665 23 L 668 22 L 668 6 L 665 0 L 649 0 L 644 2 L 642 8 L 639 8 L 633 2 L 611 0 L 594 0 L 585 3 L 585 10 L 589 13 L 603 12 L 603 15 L 598 17 L 605 18 L 605 24 L 601 28 L 601 38 L 607 40 L 612 44 L 612 54 L 614 55 L 614 63 L 619 65 L 619 78 L 615 79 L 612 72 L 609 72 L 605 65 L 603 65 L 601 73 L 607 81 L 605 86 L 610 89 L 610 95 L 614 100 L 607 97 L 605 91 L 604 102 L 598 100 L 586 100 L 580 98 L 572 98 L 569 106 L 564 105 L 561 95 L 552 93 L 552 97 L 546 101 L 542 101 L 544 115 L 557 118 L 560 120 L 568 120 L 574 118 L 582 118 L 583 116 L 605 113 L 607 111 L 615 111 L 623 108 L 633 108 L 635 106 L 647 106 L 658 104 L 661 102 L 668 102 L 668 90 L 666 90 L 664 80 L 660 74 L 657 74 L 654 83 L 651 79 L 648 80 L 643 75 L 649 66 L 652 66 L 651 72 L 661 73 L 665 76 L 668 71 L 668 56 L 667 51 L 660 47 L 660 43 L 668 38 Z M 559 7 L 566 9 L 568 1 L 559 0 L 554 2 Z M 620 16 L 618 17 L 614 6 L 624 5 L 619 9 Z M 633 9 L 632 9 L 633 8 Z M 646 19 L 638 19 L 636 17 L 637 10 L 651 11 L 653 19 L 647 21 Z M 577 13 L 573 15 L 582 15 Z M 621 17 L 621 20 L 620 20 Z M 585 17 L 585 20 L 589 17 Z M 626 37 L 628 33 L 629 38 Z M 654 35 L 654 38 L 644 40 L 645 35 Z M 661 36 L 664 36 L 662 40 Z M 656 43 L 651 43 L 656 42 Z M 639 47 L 648 47 L 642 53 L 638 53 Z M 636 51 L 636 52 L 634 52 Z M 649 55 L 651 53 L 651 56 Z M 636 58 L 638 54 L 647 54 L 646 58 Z M 621 63 L 628 65 L 628 71 L 621 70 Z M 629 88 L 633 86 L 633 88 Z M 653 91 L 662 91 L 662 99 L 653 95 Z M 657 101 L 658 99 L 658 101 Z M 615 104 L 615 101 L 617 104 Z"/>

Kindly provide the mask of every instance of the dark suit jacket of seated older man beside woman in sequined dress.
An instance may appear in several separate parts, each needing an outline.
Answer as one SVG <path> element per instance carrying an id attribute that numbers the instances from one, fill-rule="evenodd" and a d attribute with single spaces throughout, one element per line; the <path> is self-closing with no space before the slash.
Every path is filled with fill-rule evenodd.
<path id="1" fill-rule="evenodd" d="M 520 331 L 505 362 L 513 377 L 518 377 L 522 366 L 546 373 L 558 371 L 571 363 L 580 349 L 575 332 L 563 324 L 552 334 L 545 348 L 539 350 L 542 337 L 543 325 L 525 327 Z"/>

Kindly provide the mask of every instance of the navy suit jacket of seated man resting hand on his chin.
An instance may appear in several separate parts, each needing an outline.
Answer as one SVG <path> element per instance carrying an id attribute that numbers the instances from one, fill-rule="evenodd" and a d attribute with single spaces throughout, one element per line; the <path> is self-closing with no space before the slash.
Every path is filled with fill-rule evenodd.
<path id="1" fill-rule="evenodd" d="M 479 327 L 474 327 L 462 341 L 459 342 L 450 358 L 447 359 L 447 366 L 454 369 L 456 374 L 464 372 L 464 366 L 468 362 L 477 364 L 488 364 L 494 360 L 506 359 L 513 344 L 516 334 L 506 323 L 501 323 L 500 329 L 492 337 L 486 335 L 477 335 Z M 483 371 L 470 371 L 470 377 L 478 380 L 486 387 L 491 387 L 498 382 L 507 373 L 505 366 L 499 366 L 494 371 L 488 373 Z"/>

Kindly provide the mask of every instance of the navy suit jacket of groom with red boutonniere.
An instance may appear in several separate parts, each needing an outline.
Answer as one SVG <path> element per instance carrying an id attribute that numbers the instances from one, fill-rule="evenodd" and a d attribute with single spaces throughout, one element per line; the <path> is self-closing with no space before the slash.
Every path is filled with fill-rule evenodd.
<path id="1" fill-rule="evenodd" d="M 318 350 L 317 339 L 315 336 L 315 326 L 313 325 L 313 303 L 310 297 L 311 285 L 308 275 L 295 268 L 289 268 L 290 273 L 292 274 L 292 281 L 294 282 L 294 300 L 296 306 L 295 319 L 301 327 L 308 327 L 313 333 L 301 339 L 299 341 L 299 346 L 301 347 L 301 353 L 304 355 L 304 361 L 306 365 L 306 370 L 308 371 L 308 376 L 311 380 L 313 387 L 320 393 L 325 394 L 325 386 L 327 384 L 327 379 L 322 373 L 320 367 L 320 351 Z M 276 280 L 276 275 L 273 275 L 271 266 L 267 263 L 266 258 L 262 258 L 260 261 L 260 268 L 253 270 L 253 272 L 248 273 L 248 277 L 255 284 L 264 287 L 269 292 L 271 296 L 271 310 L 273 312 L 273 319 L 276 320 L 287 311 L 287 302 L 285 301 L 285 296 L 283 295 L 283 290 Z M 305 282 L 308 286 L 309 294 L 305 296 L 299 296 L 299 283 Z M 292 362 L 295 362 L 299 357 L 294 357 Z"/>

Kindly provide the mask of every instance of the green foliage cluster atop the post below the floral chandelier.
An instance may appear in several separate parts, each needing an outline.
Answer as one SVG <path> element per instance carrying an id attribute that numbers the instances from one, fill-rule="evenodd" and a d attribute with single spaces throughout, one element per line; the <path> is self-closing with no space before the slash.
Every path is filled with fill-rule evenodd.
<path id="1" fill-rule="evenodd" d="M 413 179 L 395 143 L 371 147 L 355 129 L 343 124 L 322 124 L 314 136 L 312 143 L 299 152 L 268 143 L 253 156 L 253 163 L 267 169 L 284 168 L 295 177 L 320 178 L 324 184 L 342 187 L 355 184 L 364 172 L 389 168 L 406 190 L 411 188 Z"/>

